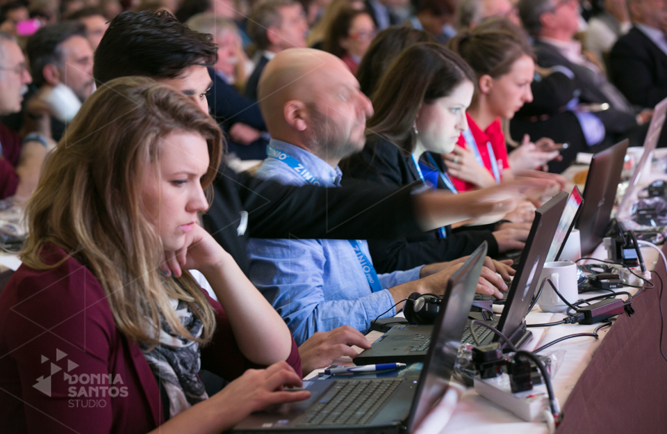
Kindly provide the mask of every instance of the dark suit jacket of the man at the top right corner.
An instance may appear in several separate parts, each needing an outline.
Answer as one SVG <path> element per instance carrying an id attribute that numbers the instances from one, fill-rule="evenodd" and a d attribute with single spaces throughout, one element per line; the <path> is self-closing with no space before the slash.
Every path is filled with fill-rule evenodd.
<path id="1" fill-rule="evenodd" d="M 667 98 L 667 55 L 633 27 L 611 49 L 609 77 L 629 102 L 652 108 Z"/>

